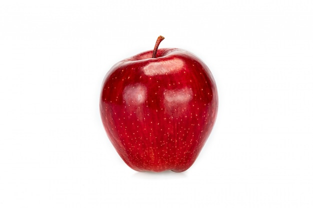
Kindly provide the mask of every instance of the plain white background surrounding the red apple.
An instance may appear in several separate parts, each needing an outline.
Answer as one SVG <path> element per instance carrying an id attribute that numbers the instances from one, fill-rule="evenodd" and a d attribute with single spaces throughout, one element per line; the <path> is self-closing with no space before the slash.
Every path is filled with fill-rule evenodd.
<path id="1" fill-rule="evenodd" d="M 312 208 L 311 0 L 1 0 L 1 208 Z M 184 173 L 137 173 L 108 141 L 117 61 L 187 49 L 219 111 Z"/>

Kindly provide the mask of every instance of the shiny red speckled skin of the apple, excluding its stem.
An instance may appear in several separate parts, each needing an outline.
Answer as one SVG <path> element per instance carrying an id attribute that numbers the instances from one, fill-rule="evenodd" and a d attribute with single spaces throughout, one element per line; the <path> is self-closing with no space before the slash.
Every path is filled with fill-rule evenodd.
<path id="1" fill-rule="evenodd" d="M 160 48 L 106 74 L 100 116 L 109 140 L 135 171 L 182 172 L 195 161 L 217 114 L 215 81 L 192 53 Z"/>

